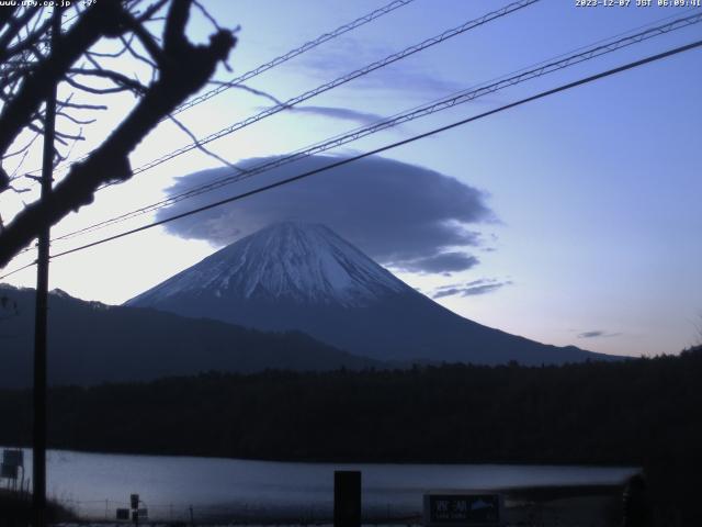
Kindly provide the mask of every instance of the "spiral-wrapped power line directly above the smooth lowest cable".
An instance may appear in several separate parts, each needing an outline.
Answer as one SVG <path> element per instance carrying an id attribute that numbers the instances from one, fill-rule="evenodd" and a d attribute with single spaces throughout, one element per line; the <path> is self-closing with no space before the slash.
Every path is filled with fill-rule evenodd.
<path id="1" fill-rule="evenodd" d="M 95 223 L 93 225 L 80 228 L 78 231 L 73 231 L 71 233 L 55 237 L 54 240 L 63 240 L 63 239 L 70 239 L 73 238 L 76 236 L 82 235 L 82 234 L 87 234 L 100 228 L 104 228 L 106 226 L 116 224 L 116 223 L 122 223 L 123 221 L 127 221 L 131 220 L 133 217 L 137 217 L 139 215 L 143 214 L 147 214 L 149 212 L 154 212 L 160 209 L 163 209 L 166 206 L 172 205 L 174 203 L 178 203 L 180 201 L 183 201 L 185 199 L 190 199 L 193 198 L 195 195 L 200 195 L 202 193 L 205 192 L 210 192 L 212 190 L 222 188 L 224 186 L 227 184 L 231 184 L 234 182 L 238 182 L 245 179 L 248 179 L 252 176 L 256 175 L 260 175 L 267 171 L 270 171 L 274 168 L 279 168 L 283 165 L 287 165 L 290 162 L 303 159 L 305 157 L 309 157 L 313 156 L 315 154 L 320 154 L 322 152 L 327 152 L 329 149 L 336 148 L 338 146 L 342 146 L 346 145 L 348 143 L 351 143 L 353 141 L 358 141 L 361 137 L 365 137 L 367 135 L 372 135 L 375 133 L 378 133 L 383 130 L 387 130 L 393 126 L 397 126 L 398 124 L 401 123 L 407 123 L 409 121 L 426 116 L 426 115 L 430 115 L 432 113 L 439 112 L 439 111 L 443 111 L 446 110 L 449 108 L 453 108 L 457 104 L 463 104 L 466 102 L 469 102 L 472 100 L 477 99 L 478 97 L 483 97 L 489 93 L 494 93 L 498 90 L 514 86 L 517 83 L 520 82 L 524 82 L 526 80 L 531 80 L 534 79 L 536 77 L 541 77 L 577 64 L 580 64 L 582 61 L 586 60 L 590 60 L 597 57 L 600 57 L 604 54 L 609 54 L 612 53 L 616 49 L 621 49 L 622 47 L 626 47 L 633 44 L 637 44 L 639 42 L 643 42 L 645 40 L 661 35 L 661 34 L 666 34 L 669 33 L 670 31 L 675 31 L 675 30 L 679 30 L 682 27 L 686 27 L 688 25 L 692 25 L 695 23 L 702 22 L 702 13 L 697 14 L 697 15 L 692 15 L 692 16 L 687 16 L 683 19 L 678 19 L 675 20 L 668 24 L 663 24 L 653 29 L 648 29 L 646 31 L 636 33 L 634 35 L 630 35 L 623 38 L 619 38 L 614 42 L 610 42 L 608 44 L 603 44 L 603 45 L 599 45 L 599 46 L 590 46 L 590 47 L 585 47 L 581 48 L 584 49 L 580 53 L 576 53 L 573 55 L 568 55 L 565 56 L 565 58 L 558 59 L 558 60 L 554 60 L 554 61 L 545 61 L 545 63 L 541 63 L 540 65 L 537 65 L 537 67 L 532 68 L 532 69 L 523 69 L 520 70 L 517 75 L 513 75 L 511 77 L 503 77 L 500 78 L 498 81 L 496 82 L 491 82 L 489 85 L 485 85 L 482 86 L 479 88 L 476 89 L 469 89 L 469 90 L 464 90 L 461 92 L 457 92 L 453 96 L 450 96 L 449 98 L 443 98 L 433 102 L 430 102 L 428 104 L 421 105 L 421 106 L 417 106 L 412 110 L 396 114 L 395 116 L 388 117 L 386 120 L 380 121 L 377 123 L 374 123 L 370 126 L 365 126 L 365 127 L 361 127 L 361 128 L 356 128 L 354 131 L 351 131 L 347 134 L 342 134 L 342 135 L 338 135 L 335 137 L 331 137 L 329 139 L 326 139 L 324 142 L 317 143 L 313 146 L 309 146 L 305 149 L 301 149 L 297 152 L 294 152 L 290 155 L 283 156 L 283 157 L 279 157 L 276 159 L 273 159 L 271 161 L 265 161 L 262 164 L 259 164 L 252 168 L 248 168 L 248 169 L 240 169 L 241 172 L 231 172 L 228 176 L 218 178 L 215 181 L 212 181 L 210 183 L 206 184 L 202 184 L 199 187 L 195 187 L 193 189 L 190 189 L 188 191 L 181 192 L 179 194 L 169 197 L 165 200 L 161 200 L 159 202 L 152 203 L 150 205 L 146 205 L 143 206 L 140 209 L 137 209 L 135 211 L 132 212 L 127 212 L 121 215 L 117 215 L 115 217 L 112 217 L 110 220 L 105 220 L 99 223 Z"/>

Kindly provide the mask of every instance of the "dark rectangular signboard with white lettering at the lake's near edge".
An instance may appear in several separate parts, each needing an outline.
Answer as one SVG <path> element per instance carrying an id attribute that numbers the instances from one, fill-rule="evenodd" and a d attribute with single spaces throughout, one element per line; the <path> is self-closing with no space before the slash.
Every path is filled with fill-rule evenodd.
<path id="1" fill-rule="evenodd" d="M 426 526 L 492 526 L 502 522 L 499 494 L 424 494 Z"/>

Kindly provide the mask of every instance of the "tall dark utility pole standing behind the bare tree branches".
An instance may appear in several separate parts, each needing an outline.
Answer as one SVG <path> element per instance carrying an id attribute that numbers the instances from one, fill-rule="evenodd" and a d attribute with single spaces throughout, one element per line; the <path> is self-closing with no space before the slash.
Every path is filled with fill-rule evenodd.
<path id="1" fill-rule="evenodd" d="M 50 53 L 56 53 L 56 45 L 61 31 L 61 10 L 54 7 L 52 13 Z M 44 116 L 44 152 L 42 162 L 42 195 L 47 200 L 52 193 L 54 171 L 54 138 L 56 130 L 56 88 L 58 79 L 50 87 L 46 97 Z M 33 522 L 34 527 L 46 526 L 46 321 L 48 311 L 48 251 L 49 225 L 38 236 L 38 256 L 36 266 L 36 306 L 34 318 L 34 437 L 32 451 L 33 472 Z"/>

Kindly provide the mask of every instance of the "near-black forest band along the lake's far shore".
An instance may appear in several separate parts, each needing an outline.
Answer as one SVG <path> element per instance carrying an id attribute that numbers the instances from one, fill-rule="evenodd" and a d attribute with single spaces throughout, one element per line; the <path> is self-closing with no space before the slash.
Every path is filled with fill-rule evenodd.
<path id="1" fill-rule="evenodd" d="M 563 367 L 211 373 L 57 388 L 49 444 L 279 460 L 632 464 L 644 468 L 661 507 L 691 515 L 702 486 L 701 380 L 698 347 Z M 30 405 L 29 391 L 0 391 L 1 444 L 29 445 Z"/>

